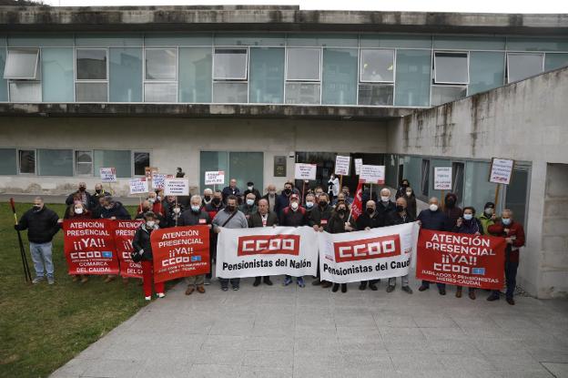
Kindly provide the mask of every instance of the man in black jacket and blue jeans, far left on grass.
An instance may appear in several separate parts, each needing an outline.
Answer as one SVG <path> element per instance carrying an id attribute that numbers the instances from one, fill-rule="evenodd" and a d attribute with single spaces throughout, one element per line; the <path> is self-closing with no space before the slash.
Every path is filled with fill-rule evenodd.
<path id="1" fill-rule="evenodd" d="M 39 283 L 46 278 L 50 285 L 55 283 L 51 240 L 60 228 L 58 220 L 56 212 L 47 209 L 41 197 L 35 197 L 34 207 L 25 211 L 20 221 L 14 226 L 17 231 L 27 230 L 30 254 L 35 269 L 35 279 L 32 283 Z"/>

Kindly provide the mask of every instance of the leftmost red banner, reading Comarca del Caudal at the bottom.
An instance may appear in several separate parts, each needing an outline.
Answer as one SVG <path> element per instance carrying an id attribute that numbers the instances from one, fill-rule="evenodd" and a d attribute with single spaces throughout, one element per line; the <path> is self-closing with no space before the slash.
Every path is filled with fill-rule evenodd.
<path id="1" fill-rule="evenodd" d="M 69 274 L 118 274 L 114 220 L 64 220 Z"/>

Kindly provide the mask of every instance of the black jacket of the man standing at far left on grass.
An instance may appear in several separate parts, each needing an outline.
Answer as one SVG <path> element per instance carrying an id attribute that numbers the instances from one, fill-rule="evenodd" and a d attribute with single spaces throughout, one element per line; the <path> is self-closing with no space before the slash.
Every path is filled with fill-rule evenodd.
<path id="1" fill-rule="evenodd" d="M 32 243 L 48 243 L 60 228 L 57 220 L 56 212 L 44 205 L 39 212 L 34 212 L 34 209 L 25 211 L 15 229 L 27 230 L 27 240 Z"/>

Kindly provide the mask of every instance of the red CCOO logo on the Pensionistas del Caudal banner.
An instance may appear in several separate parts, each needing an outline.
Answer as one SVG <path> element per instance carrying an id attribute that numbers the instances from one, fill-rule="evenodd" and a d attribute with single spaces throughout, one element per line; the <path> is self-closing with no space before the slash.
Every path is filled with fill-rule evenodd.
<path id="1" fill-rule="evenodd" d="M 398 234 L 377 238 L 340 241 L 333 243 L 335 261 L 359 261 L 397 256 L 401 254 L 401 238 Z"/>

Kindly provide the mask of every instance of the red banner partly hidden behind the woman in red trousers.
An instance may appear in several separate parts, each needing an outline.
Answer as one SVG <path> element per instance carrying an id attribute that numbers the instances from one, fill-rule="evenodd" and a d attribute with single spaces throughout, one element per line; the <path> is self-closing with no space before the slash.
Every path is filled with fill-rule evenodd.
<path id="1" fill-rule="evenodd" d="M 122 277 L 142 278 L 142 264 L 132 261 L 130 253 L 134 250 L 132 248 L 134 234 L 143 223 L 144 220 L 116 220 L 115 245 Z"/>

